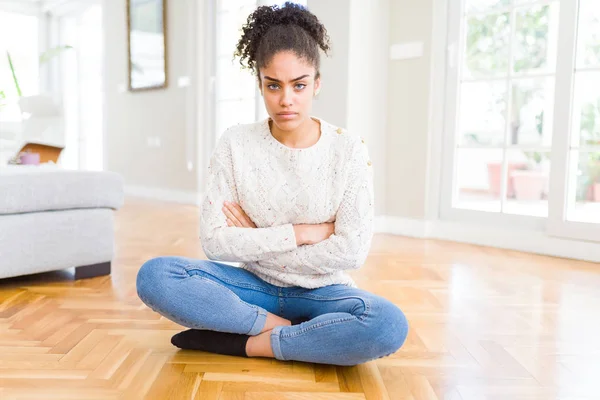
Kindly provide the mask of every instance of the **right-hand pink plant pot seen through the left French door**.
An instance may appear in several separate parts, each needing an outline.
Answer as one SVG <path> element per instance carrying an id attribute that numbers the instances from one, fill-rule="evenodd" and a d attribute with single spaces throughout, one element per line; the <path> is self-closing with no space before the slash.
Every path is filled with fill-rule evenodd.
<path id="1" fill-rule="evenodd" d="M 511 172 L 515 198 L 523 201 L 542 200 L 546 196 L 548 180 L 542 162 L 547 157 L 540 152 L 523 152 L 523 154 L 528 160 L 526 166 Z"/>

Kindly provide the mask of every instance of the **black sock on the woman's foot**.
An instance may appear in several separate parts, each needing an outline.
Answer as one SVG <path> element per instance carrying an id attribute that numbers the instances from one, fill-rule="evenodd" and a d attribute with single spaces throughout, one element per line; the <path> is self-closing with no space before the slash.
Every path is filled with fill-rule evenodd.
<path id="1" fill-rule="evenodd" d="M 174 346 L 184 350 L 202 350 L 228 356 L 248 357 L 246 342 L 250 336 L 239 333 L 188 329 L 171 338 Z"/>

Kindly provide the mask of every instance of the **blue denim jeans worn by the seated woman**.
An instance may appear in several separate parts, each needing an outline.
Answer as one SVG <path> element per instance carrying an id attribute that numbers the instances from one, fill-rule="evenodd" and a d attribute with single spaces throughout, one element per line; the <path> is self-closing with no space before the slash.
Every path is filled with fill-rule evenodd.
<path id="1" fill-rule="evenodd" d="M 357 365 L 396 352 L 408 333 L 398 307 L 364 290 L 283 288 L 209 260 L 149 260 L 138 272 L 137 292 L 148 307 L 189 328 L 257 335 L 267 312 L 288 319 L 296 325 L 271 331 L 278 360 Z"/>

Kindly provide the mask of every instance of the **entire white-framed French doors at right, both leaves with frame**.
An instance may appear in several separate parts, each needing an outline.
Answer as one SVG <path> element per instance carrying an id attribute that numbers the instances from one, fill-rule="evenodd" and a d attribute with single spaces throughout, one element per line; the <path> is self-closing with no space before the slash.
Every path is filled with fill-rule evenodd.
<path id="1" fill-rule="evenodd" d="M 449 4 L 442 217 L 600 222 L 600 2 Z"/>

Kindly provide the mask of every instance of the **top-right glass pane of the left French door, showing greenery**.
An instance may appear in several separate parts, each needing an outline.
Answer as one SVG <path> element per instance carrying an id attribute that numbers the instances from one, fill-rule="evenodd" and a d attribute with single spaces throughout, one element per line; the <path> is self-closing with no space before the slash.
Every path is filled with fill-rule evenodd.
<path id="1" fill-rule="evenodd" d="M 516 12 L 514 71 L 554 72 L 558 46 L 558 3 Z"/>

